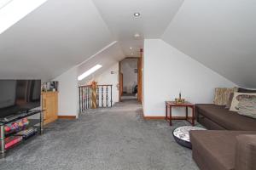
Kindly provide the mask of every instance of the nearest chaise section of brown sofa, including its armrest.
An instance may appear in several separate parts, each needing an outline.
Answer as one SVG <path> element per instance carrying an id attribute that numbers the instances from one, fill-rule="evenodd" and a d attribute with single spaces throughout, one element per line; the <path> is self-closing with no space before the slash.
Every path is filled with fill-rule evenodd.
<path id="1" fill-rule="evenodd" d="M 190 141 L 202 170 L 256 169 L 256 131 L 190 131 Z"/>

